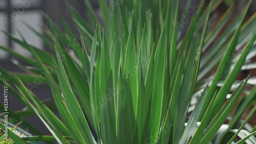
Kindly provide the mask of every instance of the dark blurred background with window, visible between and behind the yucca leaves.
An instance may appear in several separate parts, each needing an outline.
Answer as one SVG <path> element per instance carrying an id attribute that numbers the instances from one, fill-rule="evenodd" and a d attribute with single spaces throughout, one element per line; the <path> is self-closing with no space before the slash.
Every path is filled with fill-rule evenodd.
<path id="1" fill-rule="evenodd" d="M 180 4 L 180 11 L 182 11 L 186 0 L 182 0 Z M 247 1 L 237 1 L 237 11 L 241 10 Z M 39 49 L 44 49 L 50 51 L 44 43 L 38 38 L 33 32 L 31 32 L 25 25 L 28 23 L 35 30 L 42 32 L 44 26 L 47 26 L 48 23 L 44 18 L 44 13 L 48 14 L 53 21 L 56 22 L 60 28 L 62 28 L 62 24 L 60 22 L 57 11 L 65 18 L 68 25 L 74 34 L 78 34 L 75 27 L 73 26 L 72 19 L 69 15 L 69 10 L 67 8 L 67 3 L 71 4 L 85 19 L 87 18 L 87 10 L 84 6 L 83 0 L 0 0 L 0 30 L 13 34 L 16 37 L 19 37 L 18 32 L 22 33 L 26 40 L 38 47 Z M 98 10 L 98 2 L 95 0 L 91 0 L 93 8 L 96 10 L 96 13 L 99 14 Z M 193 0 L 191 6 L 196 6 L 199 4 L 199 0 Z M 223 3 L 220 8 L 220 15 L 227 9 L 227 3 Z M 256 10 L 256 0 L 253 1 L 248 15 L 252 15 Z M 234 13 L 233 17 L 236 16 Z M 10 47 L 10 49 L 20 52 L 26 56 L 30 54 L 24 50 L 21 46 L 11 41 L 5 33 L 0 32 L 0 45 L 4 45 Z M 254 58 L 255 59 L 255 58 Z M 14 57 L 10 56 L 8 53 L 0 50 L 0 66 L 5 68 L 8 71 L 16 71 L 22 72 L 16 65 L 17 61 Z M 20 62 L 20 61 L 19 61 Z M 23 62 L 20 62 L 23 63 Z M 254 70 L 255 71 L 255 70 Z M 247 76 L 247 72 L 244 73 Z M 245 76 L 241 74 L 241 78 L 243 79 Z M 255 75 L 254 75 L 255 76 Z M 48 99 L 52 98 L 51 90 L 48 86 L 38 85 L 36 88 L 32 89 L 32 91 L 40 98 L 40 99 Z M 51 99 L 50 99 L 51 100 Z M 0 99 L 0 101 L 2 101 Z M 50 101 L 51 103 L 51 101 Z M 20 110 L 24 108 L 23 104 L 20 103 L 17 99 L 9 96 L 9 107 L 12 110 Z M 29 122 L 35 125 L 35 127 L 39 128 L 42 133 L 50 134 L 47 128 L 41 123 L 40 119 L 36 116 L 29 117 L 27 119 Z"/>

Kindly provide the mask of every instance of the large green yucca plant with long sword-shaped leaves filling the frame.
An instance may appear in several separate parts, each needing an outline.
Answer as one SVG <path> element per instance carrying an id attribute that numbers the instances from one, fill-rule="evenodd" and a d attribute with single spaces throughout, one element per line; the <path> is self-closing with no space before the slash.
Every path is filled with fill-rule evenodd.
<path id="1" fill-rule="evenodd" d="M 6 33 L 32 54 L 0 46 L 29 65 L 15 62 L 23 74 L 0 68 L 0 82 L 27 106 L 9 110 L 9 121 L 36 114 L 52 133 L 23 121 L 33 136 L 10 134 L 9 143 L 256 143 L 248 124 L 255 78 L 236 80 L 255 68 L 256 14 L 246 18 L 249 1 L 230 22 L 235 5 L 216 16 L 221 3 L 188 1 L 180 16 L 179 1 L 100 0 L 100 16 L 85 1 L 90 22 L 69 6 L 80 36 L 61 15 L 65 32 L 47 15 L 43 34 L 26 24 L 56 55 Z M 51 87 L 54 105 L 33 94 L 38 81 Z"/>

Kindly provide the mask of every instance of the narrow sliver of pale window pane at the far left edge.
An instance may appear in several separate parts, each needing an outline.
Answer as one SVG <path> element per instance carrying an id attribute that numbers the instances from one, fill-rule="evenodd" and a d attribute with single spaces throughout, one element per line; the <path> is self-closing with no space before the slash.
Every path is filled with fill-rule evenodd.
<path id="1" fill-rule="evenodd" d="M 0 13 L 0 30 L 7 31 L 6 15 Z M 3 32 L 0 32 L 0 45 L 7 46 L 7 37 Z M 9 54 L 0 49 L 0 59 L 8 58 Z"/>

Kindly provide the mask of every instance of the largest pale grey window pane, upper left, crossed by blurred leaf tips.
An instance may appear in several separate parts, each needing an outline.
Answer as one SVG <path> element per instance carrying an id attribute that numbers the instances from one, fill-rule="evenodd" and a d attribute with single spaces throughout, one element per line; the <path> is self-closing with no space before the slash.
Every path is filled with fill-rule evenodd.
<path id="1" fill-rule="evenodd" d="M 24 36 L 28 43 L 42 49 L 42 41 L 39 37 L 37 37 L 31 30 L 29 30 L 23 22 L 29 23 L 35 30 L 41 32 L 41 25 L 42 25 L 42 15 L 40 11 L 31 11 L 25 12 L 24 14 L 20 15 L 15 21 L 13 22 L 13 34 L 14 36 L 20 38 L 18 31 Z M 31 56 L 31 54 L 24 49 L 22 46 L 18 45 L 17 43 L 13 42 L 13 50 L 19 53 L 22 53 L 26 56 Z"/>

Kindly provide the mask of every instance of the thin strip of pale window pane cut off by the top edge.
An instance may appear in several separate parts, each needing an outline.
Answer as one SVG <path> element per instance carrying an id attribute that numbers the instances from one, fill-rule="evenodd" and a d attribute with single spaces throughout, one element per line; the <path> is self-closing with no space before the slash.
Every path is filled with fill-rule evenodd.
<path id="1" fill-rule="evenodd" d="M 11 1 L 12 7 L 18 8 L 29 8 L 29 7 L 38 7 L 41 5 L 40 0 L 8 0 Z"/>

